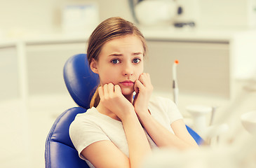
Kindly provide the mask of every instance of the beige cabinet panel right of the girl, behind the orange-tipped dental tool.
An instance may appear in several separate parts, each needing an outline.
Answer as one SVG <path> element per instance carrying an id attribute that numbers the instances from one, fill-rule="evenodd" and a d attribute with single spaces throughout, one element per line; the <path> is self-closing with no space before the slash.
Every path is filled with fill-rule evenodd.
<path id="1" fill-rule="evenodd" d="M 231 95 L 229 41 L 147 41 L 145 71 L 154 90 L 172 93 L 173 62 L 178 59 L 180 92 L 229 98 Z"/>

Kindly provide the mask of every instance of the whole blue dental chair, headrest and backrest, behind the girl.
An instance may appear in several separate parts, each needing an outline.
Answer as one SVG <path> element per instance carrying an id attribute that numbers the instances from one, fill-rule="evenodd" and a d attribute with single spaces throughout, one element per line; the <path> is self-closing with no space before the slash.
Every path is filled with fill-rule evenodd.
<path id="1" fill-rule="evenodd" d="M 98 85 L 98 76 L 90 70 L 86 54 L 70 57 L 65 63 L 63 76 L 67 90 L 78 107 L 67 109 L 60 114 L 50 129 L 46 139 L 46 168 L 88 167 L 86 162 L 79 158 L 76 148 L 69 138 L 69 125 L 76 114 L 85 113 L 90 108 L 90 98 L 93 96 L 91 92 Z M 187 130 L 197 144 L 203 143 L 203 139 L 190 127 L 187 126 Z"/>

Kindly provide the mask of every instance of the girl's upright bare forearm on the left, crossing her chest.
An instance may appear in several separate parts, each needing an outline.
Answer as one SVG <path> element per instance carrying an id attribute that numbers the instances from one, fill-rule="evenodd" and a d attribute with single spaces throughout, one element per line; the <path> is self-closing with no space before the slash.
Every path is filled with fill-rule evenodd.
<path id="1" fill-rule="evenodd" d="M 126 116 L 122 123 L 128 141 L 130 167 L 140 167 L 145 155 L 151 152 L 149 141 L 135 113 Z"/>

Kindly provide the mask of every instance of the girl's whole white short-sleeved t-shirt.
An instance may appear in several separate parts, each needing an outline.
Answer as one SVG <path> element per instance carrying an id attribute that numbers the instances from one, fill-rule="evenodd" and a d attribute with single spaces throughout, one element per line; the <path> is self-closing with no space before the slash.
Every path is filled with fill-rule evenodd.
<path id="1" fill-rule="evenodd" d="M 173 132 L 170 124 L 182 118 L 177 106 L 170 99 L 163 97 L 151 98 L 149 101 L 149 111 L 151 116 L 170 132 Z M 147 132 L 146 135 L 151 148 L 157 148 Z M 79 113 L 76 116 L 69 127 L 69 136 L 79 153 L 79 157 L 83 160 L 86 160 L 86 158 L 81 155 L 81 151 L 90 144 L 102 140 L 112 141 L 129 157 L 128 143 L 121 121 L 114 120 L 98 112 L 94 107 L 88 109 L 86 113 Z M 88 160 L 86 162 L 89 167 L 93 167 Z"/>

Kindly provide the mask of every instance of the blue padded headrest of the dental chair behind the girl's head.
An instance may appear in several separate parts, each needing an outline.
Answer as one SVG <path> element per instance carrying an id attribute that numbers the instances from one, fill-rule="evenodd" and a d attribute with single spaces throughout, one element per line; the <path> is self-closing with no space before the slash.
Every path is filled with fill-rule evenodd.
<path id="1" fill-rule="evenodd" d="M 70 57 L 65 63 L 63 76 L 67 90 L 74 102 L 89 109 L 90 99 L 99 83 L 99 76 L 91 71 L 86 54 Z"/>

